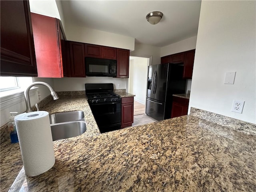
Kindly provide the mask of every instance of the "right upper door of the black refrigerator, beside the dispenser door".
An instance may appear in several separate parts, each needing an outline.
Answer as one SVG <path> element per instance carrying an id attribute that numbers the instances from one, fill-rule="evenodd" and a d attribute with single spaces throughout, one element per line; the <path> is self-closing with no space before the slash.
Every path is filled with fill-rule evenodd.
<path id="1" fill-rule="evenodd" d="M 156 73 L 154 75 L 154 98 L 155 100 L 166 101 L 168 64 L 156 65 Z"/>

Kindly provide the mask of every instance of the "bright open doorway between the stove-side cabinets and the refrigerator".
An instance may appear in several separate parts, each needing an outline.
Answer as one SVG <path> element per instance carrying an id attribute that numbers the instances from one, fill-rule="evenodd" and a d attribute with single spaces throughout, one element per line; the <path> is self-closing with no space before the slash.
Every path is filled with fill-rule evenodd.
<path id="1" fill-rule="evenodd" d="M 134 116 L 145 114 L 146 83 L 150 58 L 130 56 L 128 92 L 134 97 Z"/>

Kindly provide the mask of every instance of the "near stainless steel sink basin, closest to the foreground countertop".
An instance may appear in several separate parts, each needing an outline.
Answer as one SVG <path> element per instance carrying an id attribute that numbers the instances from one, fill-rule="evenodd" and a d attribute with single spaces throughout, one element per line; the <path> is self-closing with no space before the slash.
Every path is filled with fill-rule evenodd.
<path id="1" fill-rule="evenodd" d="M 84 121 L 66 122 L 51 125 L 52 140 L 75 137 L 86 132 L 86 123 Z"/>

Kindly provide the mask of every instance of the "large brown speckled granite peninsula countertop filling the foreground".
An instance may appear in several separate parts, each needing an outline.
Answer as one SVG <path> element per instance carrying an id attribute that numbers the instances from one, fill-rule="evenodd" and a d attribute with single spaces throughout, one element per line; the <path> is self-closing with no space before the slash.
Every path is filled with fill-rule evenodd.
<path id="1" fill-rule="evenodd" d="M 245 134 L 188 115 L 54 141 L 53 168 L 36 177 L 22 168 L 10 191 L 256 191 L 248 127 Z"/>

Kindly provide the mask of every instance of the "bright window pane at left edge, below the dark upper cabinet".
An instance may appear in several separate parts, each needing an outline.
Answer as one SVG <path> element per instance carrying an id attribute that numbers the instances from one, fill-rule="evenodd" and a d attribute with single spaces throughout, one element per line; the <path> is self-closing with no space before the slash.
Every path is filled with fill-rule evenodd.
<path id="1" fill-rule="evenodd" d="M 8 91 L 20 88 L 16 77 L 0 77 L 0 91 Z"/>

